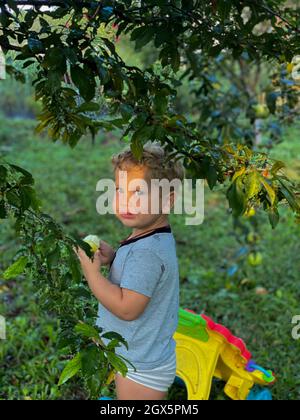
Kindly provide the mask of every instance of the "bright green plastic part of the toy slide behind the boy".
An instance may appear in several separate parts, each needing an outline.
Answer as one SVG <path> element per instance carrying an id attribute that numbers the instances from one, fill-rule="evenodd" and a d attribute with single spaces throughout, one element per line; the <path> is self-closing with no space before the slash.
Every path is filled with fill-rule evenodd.
<path id="1" fill-rule="evenodd" d="M 177 332 L 205 343 L 209 340 L 205 319 L 201 315 L 193 314 L 182 308 L 179 308 Z"/>

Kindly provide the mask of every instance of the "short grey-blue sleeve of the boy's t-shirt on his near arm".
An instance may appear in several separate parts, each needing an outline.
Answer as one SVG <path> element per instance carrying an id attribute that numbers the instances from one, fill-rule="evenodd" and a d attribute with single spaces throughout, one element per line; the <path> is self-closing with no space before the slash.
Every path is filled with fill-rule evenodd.
<path id="1" fill-rule="evenodd" d="M 133 249 L 125 260 L 120 287 L 151 297 L 164 269 L 162 259 L 155 252 Z"/>

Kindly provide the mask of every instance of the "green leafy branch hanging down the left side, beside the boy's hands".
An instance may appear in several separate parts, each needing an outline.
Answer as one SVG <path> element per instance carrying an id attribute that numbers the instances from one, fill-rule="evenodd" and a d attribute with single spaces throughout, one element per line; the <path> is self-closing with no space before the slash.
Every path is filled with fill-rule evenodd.
<path id="1" fill-rule="evenodd" d="M 118 334 L 102 334 L 101 328 L 91 325 L 91 295 L 82 285 L 80 264 L 72 247 L 80 245 L 92 257 L 91 249 L 79 238 L 64 234 L 61 226 L 41 212 L 33 178 L 27 171 L 8 163 L 0 170 L 1 219 L 15 218 L 15 229 L 23 242 L 3 277 L 8 280 L 24 273 L 32 279 L 41 307 L 60 319 L 59 348 L 68 348 L 74 355 L 59 384 L 81 370 L 90 397 L 97 398 L 111 372 L 118 369 L 126 373 L 126 364 L 115 349 L 127 343 Z M 111 340 L 107 346 L 102 336 Z"/>

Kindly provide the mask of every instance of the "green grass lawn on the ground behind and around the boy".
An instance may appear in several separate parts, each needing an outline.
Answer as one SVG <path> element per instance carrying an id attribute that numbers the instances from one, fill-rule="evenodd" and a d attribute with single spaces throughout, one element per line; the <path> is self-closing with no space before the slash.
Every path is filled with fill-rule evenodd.
<path id="1" fill-rule="evenodd" d="M 96 183 L 112 177 L 109 160 L 123 146 L 115 135 L 99 135 L 93 147 L 84 139 L 74 150 L 31 134 L 34 124 L 7 120 L 0 128 L 0 153 L 28 169 L 36 179 L 43 210 L 69 233 L 99 234 L 113 246 L 129 231 L 113 215 L 99 216 L 95 209 Z M 298 129 L 287 132 L 274 156 L 289 164 L 300 178 Z M 171 215 L 180 265 L 180 302 L 184 308 L 205 311 L 241 336 L 255 360 L 276 372 L 273 395 L 278 400 L 300 398 L 300 341 L 291 337 L 291 320 L 300 314 L 300 227 L 287 209 L 273 231 L 264 214 L 257 216 L 263 263 L 252 267 L 240 258 L 244 246 L 236 240 L 232 220 L 221 192 L 206 190 L 205 221 L 186 226 L 184 217 Z M 247 229 L 253 224 L 247 222 Z M 239 235 L 240 239 L 243 235 Z M 0 224 L 0 272 L 18 248 L 13 223 Z M 234 275 L 228 268 L 237 265 Z M 258 293 L 258 287 L 264 293 Z M 26 278 L 4 282 L 0 277 L 0 314 L 7 319 L 8 339 L 0 342 L 1 399 L 84 399 L 79 380 L 57 387 L 64 362 L 55 349 L 57 321 L 43 313 Z M 212 398 L 223 399 L 222 387 Z M 111 387 L 108 393 L 114 393 Z M 170 399 L 184 399 L 185 390 L 173 386 Z"/>

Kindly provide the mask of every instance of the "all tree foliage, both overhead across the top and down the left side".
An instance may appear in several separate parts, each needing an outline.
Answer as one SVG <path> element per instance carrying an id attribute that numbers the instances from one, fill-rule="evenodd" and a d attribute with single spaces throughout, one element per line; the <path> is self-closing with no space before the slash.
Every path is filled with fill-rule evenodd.
<path id="1" fill-rule="evenodd" d="M 17 6 L 24 3 L 34 7 L 21 11 Z M 43 4 L 51 1 L 0 2 L 7 70 L 24 81 L 16 61 L 35 75 L 35 98 L 42 104 L 37 133 L 47 129 L 53 141 L 75 147 L 87 132 L 95 137 L 99 130 L 118 128 L 138 158 L 146 141 L 159 140 L 183 159 L 187 176 L 206 179 L 211 189 L 225 185 L 235 218 L 262 206 L 275 227 L 284 202 L 299 219 L 298 186 L 283 173 L 282 162 L 256 147 L 264 133 L 278 140 L 281 125 L 299 114 L 299 86 L 290 72 L 300 53 L 295 7 L 283 0 L 68 0 L 55 1 L 49 10 L 42 10 Z M 130 36 L 137 51 L 152 43 L 161 71 L 125 63 L 106 34 L 113 25 L 115 35 Z M 249 89 L 248 67 L 264 62 L 276 73 L 260 101 Z M 236 66 L 239 83 L 232 80 Z M 216 70 L 229 80 L 229 89 L 220 89 Z M 186 78 L 193 82 L 198 121 L 174 107 Z M 64 320 L 64 345 L 75 355 L 61 383 L 81 371 L 95 396 L 110 369 L 124 369 L 114 353 L 122 340 L 111 337 L 111 348 L 103 349 L 95 339 L 72 251 L 79 242 L 41 212 L 31 174 L 4 161 L 0 174 L 0 218 L 15 217 L 24 243 L 6 277 L 31 273 L 41 304 Z M 74 331 L 78 319 L 86 327 Z M 100 364 L 90 362 L 96 360 Z"/>

